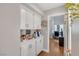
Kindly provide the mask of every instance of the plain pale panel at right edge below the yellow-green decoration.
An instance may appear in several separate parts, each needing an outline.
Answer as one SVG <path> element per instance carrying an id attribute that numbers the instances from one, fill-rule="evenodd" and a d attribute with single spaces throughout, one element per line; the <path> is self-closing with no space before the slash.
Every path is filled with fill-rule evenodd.
<path id="1" fill-rule="evenodd" d="M 79 56 L 79 18 L 73 19 L 71 41 L 71 55 Z"/>

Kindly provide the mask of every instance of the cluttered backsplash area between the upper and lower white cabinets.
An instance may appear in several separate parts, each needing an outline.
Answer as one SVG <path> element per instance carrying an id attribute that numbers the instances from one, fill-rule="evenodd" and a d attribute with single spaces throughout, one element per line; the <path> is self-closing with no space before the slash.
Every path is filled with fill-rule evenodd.
<path id="1" fill-rule="evenodd" d="M 41 30 L 40 29 L 21 29 L 20 30 L 20 38 L 21 41 L 23 40 L 30 40 L 33 38 L 37 38 L 41 36 Z"/>

